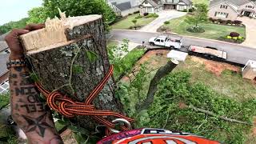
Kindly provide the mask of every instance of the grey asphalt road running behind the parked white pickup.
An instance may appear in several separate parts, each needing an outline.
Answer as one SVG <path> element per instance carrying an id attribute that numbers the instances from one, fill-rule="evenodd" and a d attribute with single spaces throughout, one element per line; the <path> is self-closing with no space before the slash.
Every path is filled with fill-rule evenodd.
<path id="1" fill-rule="evenodd" d="M 110 39 L 122 41 L 122 39 L 128 38 L 130 42 L 142 43 L 144 41 L 146 42 L 145 44 L 148 44 L 148 40 L 151 37 L 158 35 L 161 34 L 131 30 L 112 30 L 110 32 Z M 211 41 L 203 38 L 180 37 L 175 35 L 170 36 L 170 38 L 182 38 L 184 46 L 212 46 L 216 47 L 218 50 L 224 50 L 227 52 L 227 60 L 230 62 L 246 64 L 248 60 L 256 61 L 256 48 L 239 46 L 228 42 Z"/>

